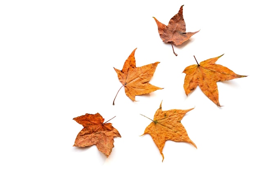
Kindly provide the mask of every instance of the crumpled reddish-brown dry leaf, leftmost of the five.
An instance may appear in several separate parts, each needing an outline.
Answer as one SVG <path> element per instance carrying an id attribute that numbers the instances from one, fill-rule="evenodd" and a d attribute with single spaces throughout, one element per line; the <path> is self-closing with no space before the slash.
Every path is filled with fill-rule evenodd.
<path id="1" fill-rule="evenodd" d="M 73 120 L 83 125 L 83 129 L 76 136 L 74 146 L 96 145 L 99 151 L 108 157 L 114 147 L 114 137 L 121 137 L 117 129 L 111 123 L 107 123 L 109 120 L 103 123 L 104 119 L 99 113 L 86 113 Z"/>

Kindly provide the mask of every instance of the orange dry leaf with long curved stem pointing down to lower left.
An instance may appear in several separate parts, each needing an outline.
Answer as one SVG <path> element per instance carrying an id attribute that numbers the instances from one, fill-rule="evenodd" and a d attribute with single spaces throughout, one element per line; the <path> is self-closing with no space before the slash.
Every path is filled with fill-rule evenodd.
<path id="1" fill-rule="evenodd" d="M 136 49 L 137 48 L 135 48 L 135 50 Z M 124 66 L 122 70 L 118 70 L 114 68 L 115 71 L 117 72 L 119 81 L 124 86 L 126 95 L 132 101 L 135 101 L 135 96 L 138 96 L 141 94 L 148 94 L 158 89 L 163 89 L 148 83 L 149 80 L 152 78 L 155 72 L 155 69 L 157 68 L 157 64 L 160 62 L 155 62 L 155 63 L 144 65 L 141 67 L 136 67 L 136 62 L 134 57 L 135 50 L 132 51 L 128 59 L 126 59 L 126 61 L 124 62 Z M 115 96 L 115 98 L 116 97 L 117 95 Z M 114 102 L 115 102 L 115 99 L 113 101 L 113 105 L 115 105 Z"/>

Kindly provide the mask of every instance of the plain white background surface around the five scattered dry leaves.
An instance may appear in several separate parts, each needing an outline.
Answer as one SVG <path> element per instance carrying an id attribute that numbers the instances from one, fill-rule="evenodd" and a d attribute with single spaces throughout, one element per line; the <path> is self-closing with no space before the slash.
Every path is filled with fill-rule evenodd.
<path id="1" fill-rule="evenodd" d="M 168 24 L 184 4 L 181 46 L 163 43 L 153 17 Z M 0 169 L 255 169 L 255 8 L 251 1 L 0 1 Z M 113 67 L 137 48 L 137 67 L 159 61 L 150 83 L 164 87 L 132 102 Z M 224 54 L 225 53 L 225 54 Z M 248 75 L 218 82 L 217 107 L 197 87 L 187 97 L 184 68 L 216 63 Z M 182 119 L 198 149 L 167 141 L 164 162 L 150 135 L 162 109 Z M 119 131 L 111 155 L 73 147 L 83 128 L 73 118 L 99 112 Z"/>

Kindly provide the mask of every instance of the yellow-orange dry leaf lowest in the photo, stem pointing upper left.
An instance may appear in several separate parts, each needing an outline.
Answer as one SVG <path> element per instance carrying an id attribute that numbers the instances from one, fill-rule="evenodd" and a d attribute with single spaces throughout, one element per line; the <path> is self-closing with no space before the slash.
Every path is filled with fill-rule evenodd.
<path id="1" fill-rule="evenodd" d="M 164 161 L 164 154 L 162 153 L 162 151 L 166 140 L 172 140 L 175 142 L 188 142 L 195 146 L 194 142 L 192 142 L 191 139 L 189 138 L 186 129 L 180 122 L 183 116 L 192 109 L 172 109 L 162 111 L 161 102 L 159 109 L 157 109 L 157 111 L 155 112 L 154 120 L 152 120 L 153 122 L 151 122 L 146 127 L 143 135 L 148 133 L 152 137 L 153 141 L 155 142 L 157 148 L 159 149 L 163 157 L 162 161 Z M 195 146 L 195 148 L 197 147 Z"/>

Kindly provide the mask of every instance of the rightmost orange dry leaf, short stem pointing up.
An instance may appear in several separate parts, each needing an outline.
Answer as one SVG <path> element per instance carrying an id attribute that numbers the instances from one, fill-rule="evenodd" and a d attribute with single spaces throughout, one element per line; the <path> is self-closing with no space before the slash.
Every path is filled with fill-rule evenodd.
<path id="1" fill-rule="evenodd" d="M 209 99 L 221 107 L 219 103 L 219 92 L 216 82 L 246 77 L 238 75 L 232 70 L 229 70 L 229 68 L 226 68 L 222 65 L 215 64 L 215 62 L 221 56 L 202 61 L 200 64 L 198 64 L 198 61 L 195 59 L 197 64 L 190 65 L 185 68 L 183 72 L 186 73 L 184 79 L 184 90 L 186 95 L 191 93 L 197 86 L 199 86 L 202 92 Z"/>

